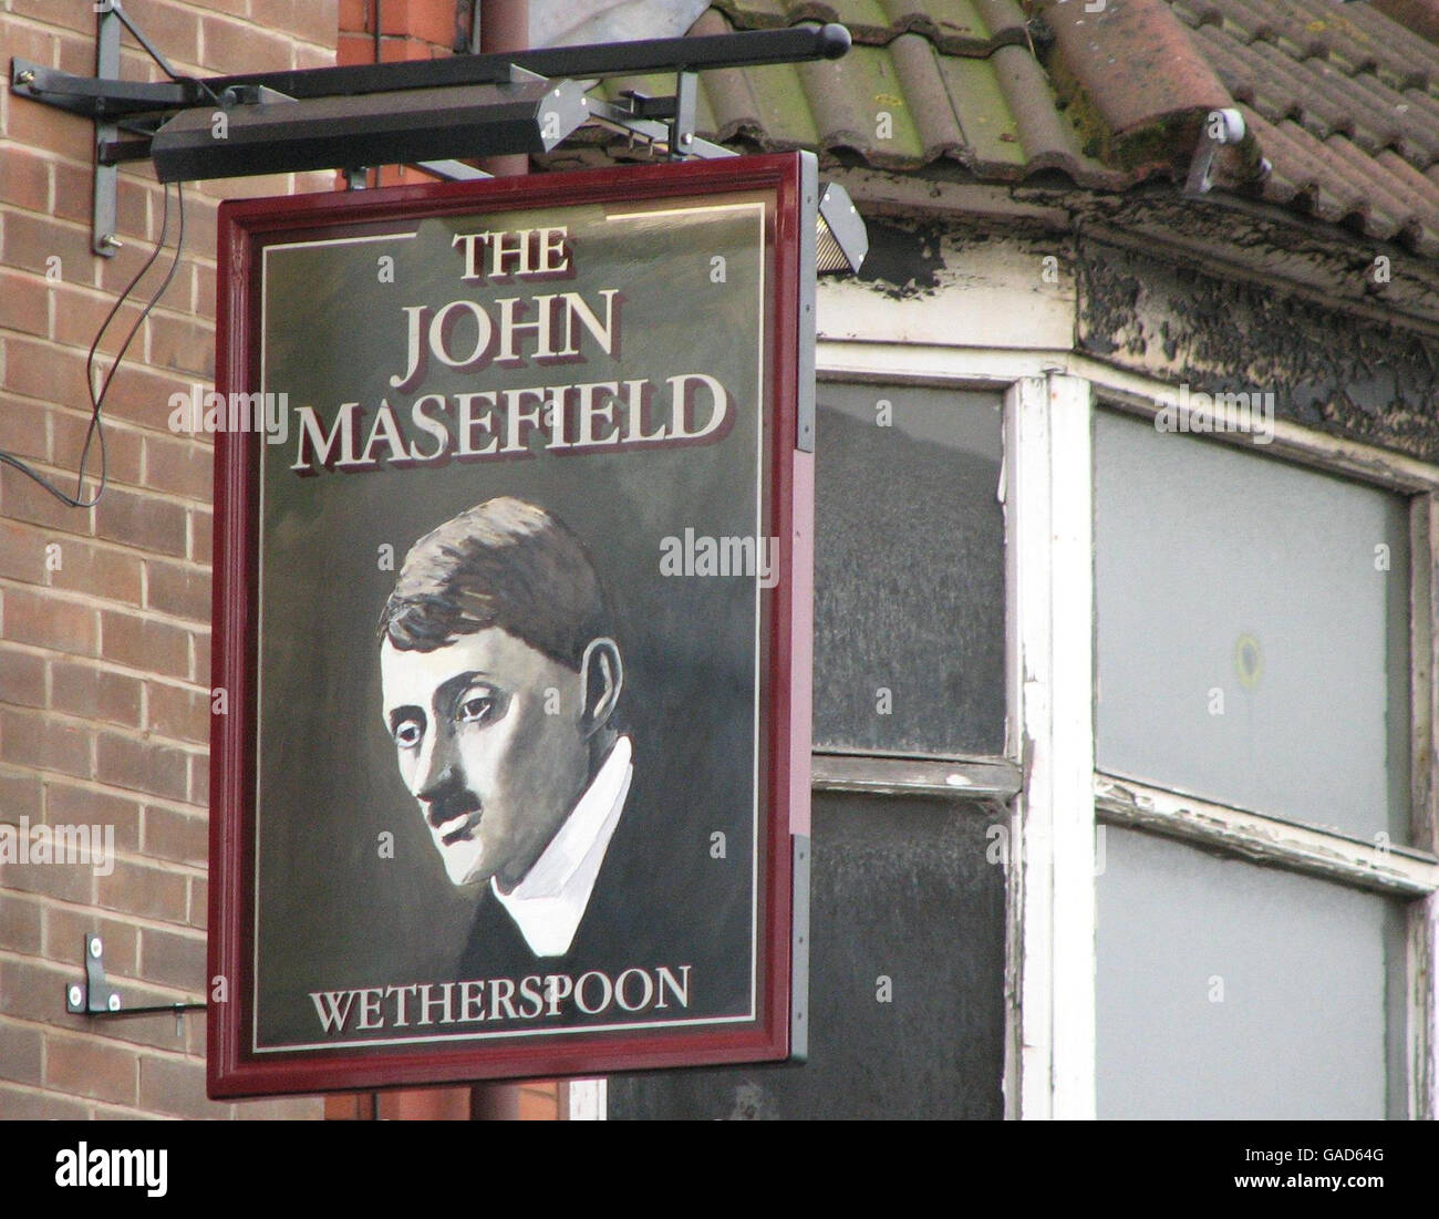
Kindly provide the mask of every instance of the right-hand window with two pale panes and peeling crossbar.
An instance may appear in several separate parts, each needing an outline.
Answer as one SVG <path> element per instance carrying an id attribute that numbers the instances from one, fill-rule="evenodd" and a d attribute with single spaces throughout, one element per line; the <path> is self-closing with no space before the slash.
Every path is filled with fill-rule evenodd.
<path id="1" fill-rule="evenodd" d="M 1427 497 L 1314 468 L 1309 443 L 1298 465 L 1095 413 L 1099 1117 L 1427 1104 L 1407 1062 L 1432 987 L 1407 967 L 1435 879 L 1409 849 L 1430 840 Z"/>

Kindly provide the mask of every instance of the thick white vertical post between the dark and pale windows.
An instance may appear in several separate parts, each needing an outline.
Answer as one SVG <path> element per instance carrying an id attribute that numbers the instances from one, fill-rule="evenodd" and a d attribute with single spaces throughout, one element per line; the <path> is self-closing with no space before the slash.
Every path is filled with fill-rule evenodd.
<path id="1" fill-rule="evenodd" d="M 1012 1038 L 1022 1118 L 1095 1114 L 1092 471 L 1088 381 L 1013 387 L 1006 419 L 1014 802 Z M 1017 645 L 1017 646 L 1014 646 Z"/>

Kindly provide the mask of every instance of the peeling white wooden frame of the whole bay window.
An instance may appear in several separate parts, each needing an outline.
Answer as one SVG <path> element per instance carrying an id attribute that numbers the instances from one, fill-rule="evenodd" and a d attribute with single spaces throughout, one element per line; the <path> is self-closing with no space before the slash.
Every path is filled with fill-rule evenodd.
<path id="1" fill-rule="evenodd" d="M 1004 396 L 1007 731 L 1003 758 L 814 754 L 816 790 L 1009 805 L 1004 1115 L 1095 1117 L 1095 838 L 1130 826 L 1288 871 L 1410 898 L 1406 1108 L 1439 1117 L 1439 468 L 1275 422 L 1266 456 L 1412 498 L 1413 848 L 1196 800 L 1095 770 L 1094 469 L 1098 400 L 1153 417 L 1167 381 L 1062 348 L 820 341 L 825 380 L 999 390 Z M 603 1118 L 604 1081 L 570 1084 L 573 1117 Z"/>

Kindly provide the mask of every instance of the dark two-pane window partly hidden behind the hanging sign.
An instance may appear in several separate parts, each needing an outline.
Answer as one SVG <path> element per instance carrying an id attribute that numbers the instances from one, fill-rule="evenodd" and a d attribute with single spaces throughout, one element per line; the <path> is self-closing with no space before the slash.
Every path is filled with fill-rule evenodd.
<path id="1" fill-rule="evenodd" d="M 809 1061 L 612 1077 L 625 1117 L 1004 1112 L 1003 409 L 819 386 Z"/>

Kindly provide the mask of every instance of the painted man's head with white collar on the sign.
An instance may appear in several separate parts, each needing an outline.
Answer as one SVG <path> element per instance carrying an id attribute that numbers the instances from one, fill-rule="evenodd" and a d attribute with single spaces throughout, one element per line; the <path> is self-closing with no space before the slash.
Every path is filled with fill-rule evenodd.
<path id="1" fill-rule="evenodd" d="M 534 957 L 574 946 L 629 794 L 613 636 L 584 545 L 509 497 L 422 537 L 380 620 L 404 784 L 450 882 L 488 888 Z"/>

